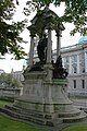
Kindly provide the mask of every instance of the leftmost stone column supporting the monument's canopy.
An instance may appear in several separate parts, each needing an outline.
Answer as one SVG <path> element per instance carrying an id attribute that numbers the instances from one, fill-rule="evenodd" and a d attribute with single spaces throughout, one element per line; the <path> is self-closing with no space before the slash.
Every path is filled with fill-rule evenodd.
<path id="1" fill-rule="evenodd" d="M 34 36 L 30 36 L 30 49 L 29 49 L 29 67 L 33 66 L 33 57 L 34 57 Z"/>

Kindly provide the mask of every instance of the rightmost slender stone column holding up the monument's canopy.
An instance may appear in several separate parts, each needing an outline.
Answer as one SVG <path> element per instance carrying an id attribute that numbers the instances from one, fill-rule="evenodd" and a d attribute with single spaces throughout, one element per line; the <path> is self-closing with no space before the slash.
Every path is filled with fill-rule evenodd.
<path id="1" fill-rule="evenodd" d="M 57 58 L 61 55 L 61 31 L 57 31 Z"/>

